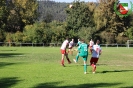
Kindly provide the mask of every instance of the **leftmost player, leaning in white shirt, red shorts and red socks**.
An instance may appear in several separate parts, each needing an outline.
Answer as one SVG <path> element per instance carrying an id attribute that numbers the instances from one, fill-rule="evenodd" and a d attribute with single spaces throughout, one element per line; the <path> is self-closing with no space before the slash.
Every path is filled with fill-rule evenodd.
<path id="1" fill-rule="evenodd" d="M 66 48 L 67 48 L 68 44 L 69 44 L 69 41 L 68 41 L 68 38 L 66 38 L 66 40 L 62 43 L 61 48 L 60 48 L 61 49 L 61 54 L 62 54 L 62 58 L 61 58 L 61 65 L 62 66 L 65 66 L 64 65 L 64 58 L 65 57 L 66 57 L 68 63 L 69 64 L 71 63 L 71 61 L 68 58 L 68 54 L 66 52 Z"/>

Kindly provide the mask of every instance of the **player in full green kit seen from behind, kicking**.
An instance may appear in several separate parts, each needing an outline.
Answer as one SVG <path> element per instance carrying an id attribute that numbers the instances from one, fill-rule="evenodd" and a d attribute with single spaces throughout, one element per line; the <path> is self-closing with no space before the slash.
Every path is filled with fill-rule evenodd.
<path id="1" fill-rule="evenodd" d="M 83 58 L 84 61 L 84 74 L 87 73 L 87 58 L 88 58 L 88 44 L 84 42 L 84 40 L 81 41 L 82 43 L 78 47 L 79 56 Z"/>

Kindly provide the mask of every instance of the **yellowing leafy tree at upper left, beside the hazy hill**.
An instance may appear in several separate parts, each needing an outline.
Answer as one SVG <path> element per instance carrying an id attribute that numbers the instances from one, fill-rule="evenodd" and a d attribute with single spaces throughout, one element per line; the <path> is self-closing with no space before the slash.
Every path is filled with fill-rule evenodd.
<path id="1" fill-rule="evenodd" d="M 11 0 L 8 1 L 9 16 L 6 31 L 23 31 L 24 26 L 33 24 L 36 20 L 36 0 Z"/>

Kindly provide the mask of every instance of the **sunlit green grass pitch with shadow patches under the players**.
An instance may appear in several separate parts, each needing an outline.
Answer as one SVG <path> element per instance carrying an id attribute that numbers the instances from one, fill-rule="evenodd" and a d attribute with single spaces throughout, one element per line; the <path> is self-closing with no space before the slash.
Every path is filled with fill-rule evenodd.
<path id="1" fill-rule="evenodd" d="M 133 48 L 102 48 L 96 74 L 83 60 L 60 65 L 60 47 L 0 47 L 1 88 L 132 88 Z M 69 55 L 71 61 L 75 58 Z"/>

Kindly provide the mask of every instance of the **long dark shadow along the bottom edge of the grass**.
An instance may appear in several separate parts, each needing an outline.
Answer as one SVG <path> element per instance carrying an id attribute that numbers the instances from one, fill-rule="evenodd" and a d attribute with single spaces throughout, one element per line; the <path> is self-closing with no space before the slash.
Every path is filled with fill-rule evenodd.
<path id="1" fill-rule="evenodd" d="M 66 85 L 66 86 L 58 86 L 63 82 L 47 82 L 41 83 L 33 88 L 96 88 L 96 87 L 114 87 L 117 85 L 121 85 L 122 83 L 86 83 L 86 84 L 79 84 L 79 85 Z"/>

